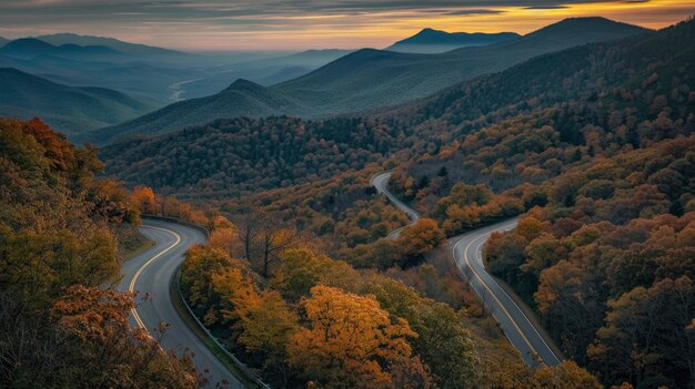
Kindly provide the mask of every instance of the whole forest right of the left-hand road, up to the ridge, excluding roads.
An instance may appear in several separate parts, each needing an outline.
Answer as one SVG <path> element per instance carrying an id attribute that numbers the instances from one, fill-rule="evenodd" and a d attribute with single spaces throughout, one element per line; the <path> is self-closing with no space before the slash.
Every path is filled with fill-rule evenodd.
<path id="1" fill-rule="evenodd" d="M 694 41 L 688 20 L 362 119 L 219 120 L 102 155 L 128 183 L 207 197 L 234 222 L 189 252 L 182 285 L 276 386 L 601 387 L 572 364 L 533 371 L 491 351 L 498 330 L 481 335 L 482 307 L 431 253 L 521 215 L 487 266 L 563 352 L 605 386 L 692 388 Z M 395 240 L 407 219 L 369 183 L 383 170 L 425 216 Z M 429 344 L 435 327 L 457 340 Z"/>

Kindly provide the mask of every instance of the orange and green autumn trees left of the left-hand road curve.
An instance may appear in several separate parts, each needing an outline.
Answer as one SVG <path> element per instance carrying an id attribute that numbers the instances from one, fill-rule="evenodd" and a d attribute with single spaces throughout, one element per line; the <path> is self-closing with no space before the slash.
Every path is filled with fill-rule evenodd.
<path id="1" fill-rule="evenodd" d="M 101 168 L 39 120 L 0 119 L 0 387 L 203 383 L 189 356 L 128 323 L 135 296 L 113 287 L 139 209 Z"/>

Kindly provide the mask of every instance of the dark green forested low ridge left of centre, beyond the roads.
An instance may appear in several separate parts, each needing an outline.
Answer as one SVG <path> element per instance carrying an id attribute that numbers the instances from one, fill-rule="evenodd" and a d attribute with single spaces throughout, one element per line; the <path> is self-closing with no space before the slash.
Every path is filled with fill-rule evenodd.
<path id="1" fill-rule="evenodd" d="M 329 178 L 390 153 L 397 133 L 376 121 L 229 119 L 104 147 L 107 173 L 159 192 L 223 197 Z"/>

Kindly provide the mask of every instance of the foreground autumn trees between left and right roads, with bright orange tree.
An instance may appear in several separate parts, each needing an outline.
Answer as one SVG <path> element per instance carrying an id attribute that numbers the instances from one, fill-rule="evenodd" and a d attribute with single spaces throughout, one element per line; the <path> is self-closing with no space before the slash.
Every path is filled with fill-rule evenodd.
<path id="1" fill-rule="evenodd" d="M 357 272 L 269 215 L 216 223 L 209 244 L 187 253 L 181 286 L 278 388 L 601 388 L 572 362 L 533 370 L 479 348 L 465 310 Z"/>

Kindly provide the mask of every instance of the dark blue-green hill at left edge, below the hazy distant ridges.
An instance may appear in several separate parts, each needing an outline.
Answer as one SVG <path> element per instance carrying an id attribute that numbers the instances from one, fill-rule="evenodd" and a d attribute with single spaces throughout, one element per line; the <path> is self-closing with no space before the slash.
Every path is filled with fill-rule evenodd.
<path id="1" fill-rule="evenodd" d="M 12 68 L 0 68 L 0 115 L 16 119 L 41 117 L 56 130 L 75 135 L 119 123 L 153 109 L 103 88 L 73 88 L 58 84 Z"/>

